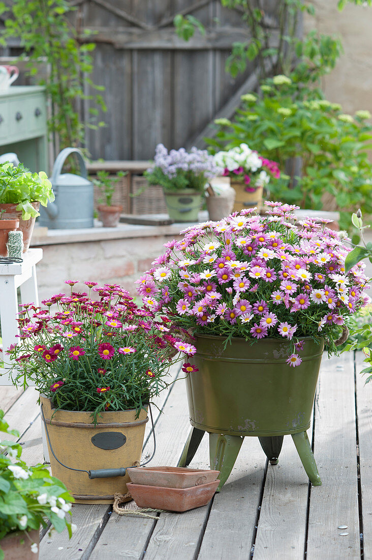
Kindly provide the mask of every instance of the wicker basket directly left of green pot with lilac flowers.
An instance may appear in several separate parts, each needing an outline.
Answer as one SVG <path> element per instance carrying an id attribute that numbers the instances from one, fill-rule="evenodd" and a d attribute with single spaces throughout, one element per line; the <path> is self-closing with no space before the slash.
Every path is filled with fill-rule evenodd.
<path id="1" fill-rule="evenodd" d="M 141 175 L 132 176 L 131 214 L 167 214 L 163 189 L 159 185 L 149 185 Z"/>

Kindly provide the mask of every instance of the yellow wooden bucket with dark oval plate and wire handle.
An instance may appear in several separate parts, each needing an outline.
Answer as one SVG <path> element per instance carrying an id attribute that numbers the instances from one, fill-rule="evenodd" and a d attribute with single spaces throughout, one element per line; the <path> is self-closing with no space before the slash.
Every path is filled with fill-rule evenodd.
<path id="1" fill-rule="evenodd" d="M 147 412 L 136 410 L 101 412 L 92 423 L 90 412 L 54 410 L 51 400 L 40 395 L 46 427 L 56 457 L 72 469 L 86 471 L 134 466 L 142 453 Z M 52 418 L 53 416 L 53 418 Z M 78 503 L 112 503 L 115 492 L 126 494 L 129 475 L 112 478 L 88 477 L 62 466 L 48 442 L 51 473 L 59 478 Z"/>

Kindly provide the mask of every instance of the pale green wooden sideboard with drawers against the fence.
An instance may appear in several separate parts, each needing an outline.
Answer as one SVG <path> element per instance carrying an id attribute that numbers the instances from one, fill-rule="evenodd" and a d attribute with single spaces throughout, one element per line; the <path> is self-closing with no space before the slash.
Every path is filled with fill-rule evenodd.
<path id="1" fill-rule="evenodd" d="M 0 155 L 15 152 L 31 171 L 48 169 L 45 88 L 11 86 L 0 91 Z"/>

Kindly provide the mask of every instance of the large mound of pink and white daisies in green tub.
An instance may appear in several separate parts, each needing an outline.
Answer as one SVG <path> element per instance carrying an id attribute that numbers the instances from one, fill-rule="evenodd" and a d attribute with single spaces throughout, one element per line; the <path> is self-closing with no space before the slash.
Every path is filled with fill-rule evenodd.
<path id="1" fill-rule="evenodd" d="M 296 206 L 266 206 L 265 217 L 249 209 L 184 230 L 140 278 L 138 292 L 184 329 L 282 338 L 292 351 L 299 338 L 322 337 L 334 352 L 342 325 L 369 301 L 364 264 L 346 274 L 351 248 L 336 232 L 312 218 L 294 225 Z M 293 352 L 288 363 L 301 358 Z"/>

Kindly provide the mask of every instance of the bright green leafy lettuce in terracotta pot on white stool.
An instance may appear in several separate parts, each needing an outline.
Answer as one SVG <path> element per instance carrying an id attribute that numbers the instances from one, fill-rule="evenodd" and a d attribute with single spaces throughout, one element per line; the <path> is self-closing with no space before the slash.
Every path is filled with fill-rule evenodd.
<path id="1" fill-rule="evenodd" d="M 31 202 L 46 206 L 49 200 L 54 200 L 54 194 L 44 171 L 31 173 L 22 164 L 14 167 L 9 162 L 0 165 L 0 204 L 18 204 L 22 220 L 40 215 Z"/>

